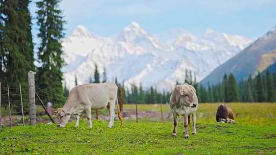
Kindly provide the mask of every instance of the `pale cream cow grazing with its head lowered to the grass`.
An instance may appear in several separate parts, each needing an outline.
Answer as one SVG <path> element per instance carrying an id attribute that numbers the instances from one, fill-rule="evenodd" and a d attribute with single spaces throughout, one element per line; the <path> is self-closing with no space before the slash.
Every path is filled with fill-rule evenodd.
<path id="1" fill-rule="evenodd" d="M 58 109 L 58 127 L 64 127 L 72 114 L 76 115 L 76 127 L 79 125 L 80 114 L 85 110 L 89 121 L 89 127 L 92 127 L 91 109 L 99 110 L 107 107 L 110 114 L 108 127 L 114 124 L 115 105 L 117 104 L 118 117 L 122 124 L 122 115 L 118 108 L 117 98 L 118 87 L 113 82 L 102 84 L 84 84 L 74 87 L 63 106 Z"/>

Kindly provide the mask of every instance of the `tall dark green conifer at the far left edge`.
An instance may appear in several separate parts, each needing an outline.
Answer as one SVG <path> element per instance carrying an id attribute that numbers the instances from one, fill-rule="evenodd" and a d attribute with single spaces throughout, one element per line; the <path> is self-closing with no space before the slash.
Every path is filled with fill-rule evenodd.
<path id="1" fill-rule="evenodd" d="M 0 81 L 27 85 L 34 70 L 30 1 L 0 1 Z"/>

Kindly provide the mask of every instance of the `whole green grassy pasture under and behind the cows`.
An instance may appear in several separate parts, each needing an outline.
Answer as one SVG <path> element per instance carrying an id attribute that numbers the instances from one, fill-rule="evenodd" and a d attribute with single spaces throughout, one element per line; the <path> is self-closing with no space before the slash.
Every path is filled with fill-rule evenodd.
<path id="1" fill-rule="evenodd" d="M 171 137 L 173 123 L 159 118 L 139 123 L 124 120 L 123 126 L 116 121 L 113 128 L 105 120 L 93 120 L 89 129 L 84 119 L 77 128 L 74 122 L 65 128 L 42 123 L 4 126 L 0 154 L 276 154 L 276 104 L 227 104 L 236 114 L 236 124 L 216 123 L 217 106 L 200 104 L 197 135 L 191 135 L 189 127 L 190 139 L 184 138 L 181 123 L 177 137 Z M 139 107 L 140 111 L 160 110 L 156 105 Z M 164 105 L 165 112 L 168 108 Z"/>

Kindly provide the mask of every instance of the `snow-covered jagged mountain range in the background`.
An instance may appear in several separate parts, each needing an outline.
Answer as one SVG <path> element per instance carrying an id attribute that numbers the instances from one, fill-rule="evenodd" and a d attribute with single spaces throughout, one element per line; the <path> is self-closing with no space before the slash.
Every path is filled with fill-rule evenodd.
<path id="1" fill-rule="evenodd" d="M 94 76 L 97 63 L 101 74 L 106 67 L 109 81 L 118 77 L 126 86 L 135 83 L 170 90 L 176 80 L 185 80 L 186 69 L 195 72 L 200 81 L 251 41 L 211 29 L 202 36 L 181 28 L 153 35 L 136 22 L 111 37 L 100 37 L 78 25 L 62 41 L 67 63 L 63 68 L 64 81 L 72 88 L 76 75 L 79 84 L 87 83 Z"/>

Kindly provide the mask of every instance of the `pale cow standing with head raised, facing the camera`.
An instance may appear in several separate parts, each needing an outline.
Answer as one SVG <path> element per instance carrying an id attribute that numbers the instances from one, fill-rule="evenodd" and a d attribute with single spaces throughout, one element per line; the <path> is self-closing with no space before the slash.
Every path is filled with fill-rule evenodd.
<path id="1" fill-rule="evenodd" d="M 170 106 L 174 119 L 174 128 L 172 136 L 177 134 L 177 117 L 184 117 L 184 134 L 185 138 L 189 138 L 187 126 L 190 124 L 190 115 L 193 115 L 193 135 L 196 135 L 196 110 L 198 108 L 198 99 L 196 90 L 189 84 L 176 85 L 172 91 L 170 98 Z"/>

